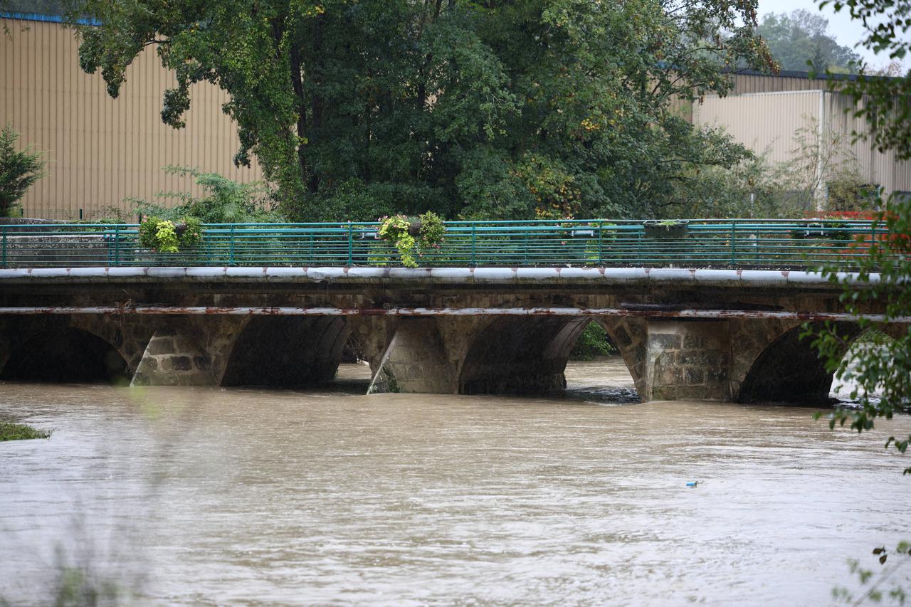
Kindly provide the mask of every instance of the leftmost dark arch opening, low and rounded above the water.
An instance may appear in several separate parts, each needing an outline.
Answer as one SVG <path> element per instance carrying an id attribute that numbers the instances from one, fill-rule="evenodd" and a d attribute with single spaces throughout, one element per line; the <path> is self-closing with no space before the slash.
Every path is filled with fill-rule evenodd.
<path id="1" fill-rule="evenodd" d="M 72 327 L 45 331 L 15 347 L 0 379 L 56 384 L 128 383 L 129 366 L 114 346 Z"/>

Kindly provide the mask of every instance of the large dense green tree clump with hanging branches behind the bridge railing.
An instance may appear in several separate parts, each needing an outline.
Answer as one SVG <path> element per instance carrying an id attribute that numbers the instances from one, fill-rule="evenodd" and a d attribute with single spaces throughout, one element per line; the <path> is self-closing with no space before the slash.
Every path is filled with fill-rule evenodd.
<path id="1" fill-rule="evenodd" d="M 117 96 L 147 46 L 230 101 L 241 147 L 302 219 L 650 213 L 742 147 L 672 108 L 773 61 L 755 0 L 81 0 L 80 63 Z"/>

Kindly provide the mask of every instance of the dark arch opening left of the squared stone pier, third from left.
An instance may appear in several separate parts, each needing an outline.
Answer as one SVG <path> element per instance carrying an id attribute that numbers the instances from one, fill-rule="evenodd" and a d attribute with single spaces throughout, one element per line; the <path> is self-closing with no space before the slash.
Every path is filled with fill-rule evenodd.
<path id="1" fill-rule="evenodd" d="M 459 394 L 558 390 L 572 346 L 587 318 L 502 317 L 471 345 L 459 376 Z"/>

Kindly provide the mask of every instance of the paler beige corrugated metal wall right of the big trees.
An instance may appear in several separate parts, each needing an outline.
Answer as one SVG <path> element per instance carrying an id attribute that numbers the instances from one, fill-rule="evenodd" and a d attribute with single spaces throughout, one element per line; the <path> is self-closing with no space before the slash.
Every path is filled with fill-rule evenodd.
<path id="1" fill-rule="evenodd" d="M 844 138 L 865 180 L 882 186 L 886 194 L 911 190 L 911 161 L 896 162 L 894 152 L 881 153 L 869 142 L 852 141 L 852 131 L 865 132 L 865 122 L 845 114 L 844 108 L 854 108 L 851 98 L 824 90 L 707 97 L 693 108 L 693 123 L 721 126 L 773 162 L 788 162 L 798 130 L 809 129 L 815 119 Z"/>

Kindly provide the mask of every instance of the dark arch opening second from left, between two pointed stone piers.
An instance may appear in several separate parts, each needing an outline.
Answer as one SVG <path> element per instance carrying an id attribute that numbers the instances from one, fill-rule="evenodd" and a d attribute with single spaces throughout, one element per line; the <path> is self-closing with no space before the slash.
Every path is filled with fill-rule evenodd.
<path id="1" fill-rule="evenodd" d="M 255 316 L 231 350 L 221 385 L 302 387 L 331 381 L 350 333 L 341 316 Z"/>

